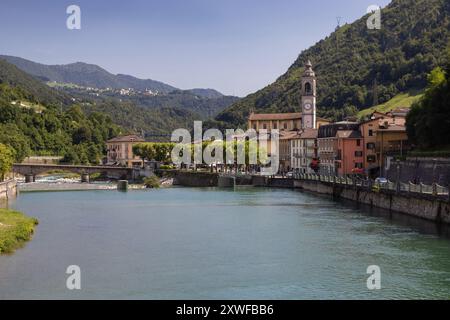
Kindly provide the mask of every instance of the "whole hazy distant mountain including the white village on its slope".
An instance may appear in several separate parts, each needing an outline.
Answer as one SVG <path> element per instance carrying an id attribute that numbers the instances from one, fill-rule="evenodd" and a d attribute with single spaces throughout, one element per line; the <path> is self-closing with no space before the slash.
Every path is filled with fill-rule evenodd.
<path id="1" fill-rule="evenodd" d="M 0 59 L 5 59 L 41 81 L 49 82 L 61 94 L 91 98 L 101 95 L 132 102 L 143 108 L 177 108 L 191 112 L 192 116 L 195 114 L 199 120 L 215 117 L 239 99 L 225 96 L 214 89 L 180 90 L 154 80 L 142 80 L 125 74 L 113 75 L 97 65 L 82 62 L 44 65 L 13 56 L 0 55 Z M 96 90 L 93 93 L 90 88 L 112 90 Z M 133 89 L 130 94 L 120 93 L 120 89 L 128 88 Z M 146 90 L 153 92 L 148 94 Z"/>

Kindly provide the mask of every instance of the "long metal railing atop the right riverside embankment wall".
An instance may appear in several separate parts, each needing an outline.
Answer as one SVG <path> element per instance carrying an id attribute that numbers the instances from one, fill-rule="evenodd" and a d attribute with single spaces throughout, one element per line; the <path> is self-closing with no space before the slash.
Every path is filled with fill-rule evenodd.
<path id="1" fill-rule="evenodd" d="M 312 181 L 322 181 L 340 185 L 356 186 L 361 188 L 368 188 L 374 191 L 379 190 L 391 190 L 396 192 L 407 192 L 407 193 L 420 193 L 428 194 L 433 196 L 447 196 L 450 199 L 449 188 L 441 186 L 437 183 L 427 185 L 424 183 L 414 184 L 412 182 L 395 182 L 387 180 L 385 182 L 378 182 L 371 179 L 361 179 L 355 177 L 343 177 L 334 175 L 320 175 L 311 173 L 294 173 L 293 178 L 297 180 L 312 180 Z"/>

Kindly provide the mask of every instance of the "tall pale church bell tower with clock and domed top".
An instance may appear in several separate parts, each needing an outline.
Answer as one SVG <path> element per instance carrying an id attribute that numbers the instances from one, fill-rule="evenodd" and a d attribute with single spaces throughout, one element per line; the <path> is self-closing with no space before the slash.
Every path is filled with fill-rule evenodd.
<path id="1" fill-rule="evenodd" d="M 302 76 L 302 128 L 316 129 L 316 74 L 311 61 L 305 64 Z"/>

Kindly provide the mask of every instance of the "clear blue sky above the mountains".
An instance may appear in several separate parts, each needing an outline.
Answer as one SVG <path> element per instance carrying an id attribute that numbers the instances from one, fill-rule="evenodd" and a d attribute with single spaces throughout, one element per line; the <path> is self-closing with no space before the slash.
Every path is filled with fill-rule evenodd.
<path id="1" fill-rule="evenodd" d="M 45 64 L 76 61 L 188 89 L 244 96 L 298 54 L 389 0 L 2 0 L 0 53 Z M 81 8 L 81 30 L 66 8 Z"/>

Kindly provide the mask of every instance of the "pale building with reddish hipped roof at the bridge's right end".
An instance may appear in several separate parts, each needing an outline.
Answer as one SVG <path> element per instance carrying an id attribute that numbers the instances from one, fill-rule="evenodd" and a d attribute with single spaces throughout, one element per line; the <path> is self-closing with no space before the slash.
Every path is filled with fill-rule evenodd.
<path id="1" fill-rule="evenodd" d="M 106 141 L 107 165 L 142 167 L 143 161 L 133 154 L 133 145 L 145 142 L 137 135 L 115 137 Z"/>

